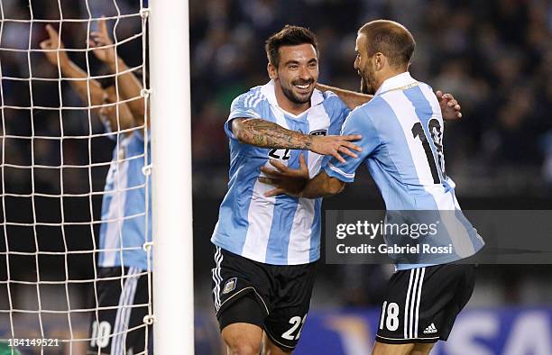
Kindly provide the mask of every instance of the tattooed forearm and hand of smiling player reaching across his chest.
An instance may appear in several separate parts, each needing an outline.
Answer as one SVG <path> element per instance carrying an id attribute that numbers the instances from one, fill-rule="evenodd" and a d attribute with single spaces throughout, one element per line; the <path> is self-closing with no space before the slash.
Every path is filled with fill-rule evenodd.
<path id="1" fill-rule="evenodd" d="M 345 162 L 345 159 L 339 152 L 356 158 L 352 150 L 361 151 L 360 147 L 351 142 L 362 138 L 358 134 L 314 136 L 291 131 L 260 118 L 235 118 L 232 120 L 232 132 L 241 143 L 270 149 L 311 150 L 317 154 L 331 155 L 341 162 Z"/>

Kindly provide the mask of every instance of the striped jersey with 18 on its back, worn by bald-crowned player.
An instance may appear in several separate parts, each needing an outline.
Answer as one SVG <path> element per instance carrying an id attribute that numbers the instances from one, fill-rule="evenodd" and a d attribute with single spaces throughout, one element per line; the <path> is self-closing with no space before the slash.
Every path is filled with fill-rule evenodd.
<path id="1" fill-rule="evenodd" d="M 430 211 L 426 216 L 435 211 L 437 220 L 446 223 L 428 241 L 434 246 L 452 244 L 452 253 L 425 256 L 419 264 L 398 263 L 397 269 L 464 259 L 483 247 L 458 205 L 455 183 L 446 177 L 443 132 L 432 88 L 405 72 L 385 80 L 369 103 L 346 118 L 342 134 L 363 136 L 355 142 L 363 148 L 358 158 L 345 157 L 345 163 L 331 159 L 324 167 L 329 177 L 352 182 L 356 168 L 365 163 L 388 211 Z"/>

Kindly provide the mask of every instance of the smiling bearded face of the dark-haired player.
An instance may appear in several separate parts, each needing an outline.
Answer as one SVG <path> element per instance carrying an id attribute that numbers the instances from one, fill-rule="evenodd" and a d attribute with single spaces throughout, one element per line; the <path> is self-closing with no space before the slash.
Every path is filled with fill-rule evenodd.
<path id="1" fill-rule="evenodd" d="M 295 105 L 308 104 L 318 80 L 317 50 L 308 43 L 282 46 L 278 68 L 269 64 L 269 75 Z"/>

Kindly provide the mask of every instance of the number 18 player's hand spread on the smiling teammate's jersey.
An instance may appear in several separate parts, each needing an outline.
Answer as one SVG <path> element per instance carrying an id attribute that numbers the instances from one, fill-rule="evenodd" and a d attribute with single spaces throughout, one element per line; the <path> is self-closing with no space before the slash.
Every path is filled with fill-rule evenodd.
<path id="1" fill-rule="evenodd" d="M 262 167 L 261 171 L 266 177 L 259 177 L 259 181 L 275 188 L 264 193 L 265 197 L 279 196 L 282 194 L 299 196 L 308 182 L 308 167 L 305 157 L 299 155 L 299 169 L 288 168 L 280 161 L 271 159 L 272 167 Z"/>

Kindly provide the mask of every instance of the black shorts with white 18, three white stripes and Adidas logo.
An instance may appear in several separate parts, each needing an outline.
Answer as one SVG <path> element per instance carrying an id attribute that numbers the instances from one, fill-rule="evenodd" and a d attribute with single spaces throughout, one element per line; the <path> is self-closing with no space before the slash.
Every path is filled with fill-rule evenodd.
<path id="1" fill-rule="evenodd" d="M 444 264 L 397 271 L 382 305 L 376 341 L 446 341 L 474 292 L 475 266 Z"/>

